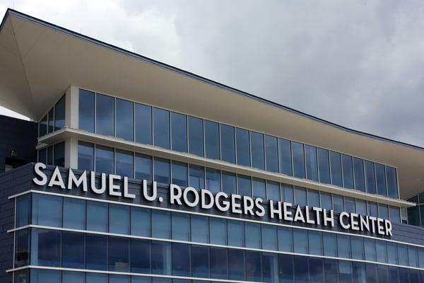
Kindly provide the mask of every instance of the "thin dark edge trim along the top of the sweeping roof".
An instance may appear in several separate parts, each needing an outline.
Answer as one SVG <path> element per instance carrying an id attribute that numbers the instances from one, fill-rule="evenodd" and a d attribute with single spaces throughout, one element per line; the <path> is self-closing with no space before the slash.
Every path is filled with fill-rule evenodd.
<path id="1" fill-rule="evenodd" d="M 336 124 L 334 122 L 330 122 L 330 121 L 324 120 L 322 118 L 316 117 L 314 115 L 307 114 L 307 113 L 302 112 L 300 110 L 295 110 L 293 108 L 290 108 L 290 107 L 285 106 L 285 105 L 281 105 L 281 104 L 276 103 L 274 101 L 271 101 L 271 100 L 268 100 L 268 99 L 265 99 L 265 98 L 261 98 L 259 96 L 255 96 L 252 93 L 247 93 L 246 91 L 241 91 L 240 89 L 233 88 L 231 86 L 227 86 L 227 85 L 225 85 L 223 83 L 219 83 L 217 81 L 213 81 L 211 79 L 207 79 L 204 76 L 196 75 L 196 74 L 194 74 L 194 73 L 192 73 L 190 71 L 185 71 L 183 69 L 179 69 L 177 67 L 173 67 L 173 66 L 171 66 L 169 64 L 165 64 L 163 62 L 159 62 L 159 61 L 157 61 L 155 59 L 151 59 L 151 58 L 145 57 L 145 56 L 143 56 L 141 54 L 137 54 L 137 53 L 131 52 L 129 50 L 124 50 L 121 47 L 117 47 L 115 45 L 111 45 L 111 44 L 106 43 L 106 42 L 103 42 L 101 40 L 96 40 L 93 37 L 89 37 L 87 35 L 82 35 L 81 33 L 76 33 L 73 30 L 69 30 L 67 28 L 62 28 L 59 25 L 54 25 L 53 23 L 49 23 L 49 22 L 43 21 L 43 20 L 41 20 L 39 18 L 35 18 L 33 16 L 29 16 L 28 14 L 25 14 L 25 13 L 22 13 L 22 12 L 19 12 L 19 11 L 16 11 L 16 10 L 14 10 L 12 8 L 8 8 L 6 10 L 6 13 L 4 15 L 4 18 L 3 18 L 3 20 L 1 21 L 1 24 L 0 24 L 0 30 L 3 28 L 4 23 L 6 22 L 6 20 L 7 20 L 7 18 L 8 18 L 9 15 L 17 16 L 17 17 L 23 18 L 23 19 L 25 19 L 27 21 L 32 21 L 34 23 L 37 23 L 37 24 L 40 24 L 40 25 L 44 25 L 47 28 L 52 28 L 52 29 L 54 29 L 56 31 L 59 31 L 61 33 L 65 33 L 66 35 L 73 35 L 75 37 L 78 37 L 81 40 L 86 40 L 88 42 L 94 43 L 96 45 L 100 45 L 100 46 L 105 47 L 107 49 L 114 50 L 116 52 L 125 54 L 127 56 L 134 57 L 136 59 L 140 59 L 140 60 L 142 60 L 144 62 L 155 64 L 158 67 L 162 67 L 162 68 L 165 68 L 165 69 L 170 70 L 170 71 L 175 71 L 178 74 L 182 74 L 184 76 L 188 76 L 188 77 L 190 77 L 192 79 L 197 79 L 199 81 L 202 81 L 204 83 L 211 84 L 211 85 L 216 86 L 218 88 L 223 88 L 223 89 L 225 89 L 227 91 L 231 91 L 232 93 L 237 93 L 239 95 L 246 96 L 246 97 L 252 98 L 254 100 L 258 100 L 258 101 L 260 101 L 262 103 L 266 103 L 268 105 L 271 105 L 271 106 L 274 106 L 274 107 L 277 107 L 277 108 L 281 108 L 282 110 L 293 112 L 295 114 L 301 115 L 303 117 L 307 117 L 307 118 L 309 118 L 311 120 L 314 120 L 314 121 L 317 121 L 317 122 L 321 122 L 321 123 L 323 123 L 325 125 L 336 127 L 338 129 L 341 129 L 341 130 L 346 131 L 346 132 L 350 132 L 350 133 L 353 133 L 353 134 L 359 134 L 361 136 L 369 137 L 369 138 L 372 138 L 372 139 L 379 139 L 381 141 L 386 141 L 386 142 L 389 142 L 389 143 L 392 143 L 392 144 L 396 144 L 396 145 L 407 146 L 407 147 L 409 147 L 411 149 L 417 149 L 417 150 L 420 150 L 420 151 L 424 151 L 424 147 L 416 146 L 416 145 L 413 145 L 413 144 L 408 144 L 408 143 L 403 142 L 403 141 L 396 141 L 394 139 L 389 139 L 389 138 L 386 138 L 386 137 L 379 137 L 379 136 L 377 136 L 375 134 L 370 134 L 370 133 L 367 133 L 367 132 L 361 132 L 361 131 L 358 131 L 358 130 L 355 130 L 355 129 L 351 129 L 351 128 L 348 128 L 348 127 L 345 127 L 345 126 L 342 126 L 342 125 L 338 125 L 338 124 Z"/>

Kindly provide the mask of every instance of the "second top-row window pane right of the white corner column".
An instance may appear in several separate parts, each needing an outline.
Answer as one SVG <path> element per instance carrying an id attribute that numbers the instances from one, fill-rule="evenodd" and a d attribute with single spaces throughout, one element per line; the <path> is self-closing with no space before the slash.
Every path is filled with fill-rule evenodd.
<path id="1" fill-rule="evenodd" d="M 114 136 L 114 98 L 99 93 L 95 96 L 95 132 Z"/>

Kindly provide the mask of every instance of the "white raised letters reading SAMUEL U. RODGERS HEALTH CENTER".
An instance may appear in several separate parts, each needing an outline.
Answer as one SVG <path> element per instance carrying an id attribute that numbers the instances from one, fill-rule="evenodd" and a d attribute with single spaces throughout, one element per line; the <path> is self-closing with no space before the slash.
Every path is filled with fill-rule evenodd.
<path id="1" fill-rule="evenodd" d="M 67 182 L 61 176 L 59 168 L 56 167 L 50 178 L 43 172 L 46 168 L 43 163 L 36 163 L 33 178 L 35 185 L 47 187 L 61 187 L 63 190 L 72 190 L 78 187 L 83 192 L 93 192 L 96 195 L 110 195 L 112 197 L 124 197 L 135 199 L 136 195 L 129 192 L 128 177 L 114 174 L 101 174 L 100 184 L 95 182 L 95 172 L 84 171 L 78 177 L 69 168 Z M 65 179 L 65 180 L 66 180 Z M 119 185 L 117 183 L 120 183 Z M 226 194 L 217 192 L 215 195 L 209 190 L 196 190 L 194 187 L 180 187 L 170 184 L 168 201 L 170 204 L 185 205 L 187 207 L 201 207 L 202 209 L 216 208 L 220 212 L 231 212 L 232 214 L 245 214 L 250 216 L 264 217 L 266 214 L 264 200 L 260 197 L 249 197 L 247 195 Z M 148 187 L 147 180 L 143 180 L 141 197 L 148 202 L 163 202 L 163 197 L 158 197 L 157 183 L 153 182 Z M 334 221 L 338 221 L 342 229 L 352 231 L 367 231 L 384 236 L 392 236 L 391 222 L 374 216 L 363 216 L 352 212 L 341 212 L 335 217 L 333 209 L 322 207 L 300 207 L 288 202 L 269 200 L 269 217 L 290 222 L 300 222 L 318 226 L 334 227 Z"/>

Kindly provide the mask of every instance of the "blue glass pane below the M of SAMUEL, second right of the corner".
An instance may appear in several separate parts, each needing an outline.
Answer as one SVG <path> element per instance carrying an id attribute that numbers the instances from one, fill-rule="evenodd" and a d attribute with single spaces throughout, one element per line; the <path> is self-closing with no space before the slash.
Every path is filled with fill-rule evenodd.
<path id="1" fill-rule="evenodd" d="M 64 228 L 86 229 L 86 201 L 64 197 Z"/>

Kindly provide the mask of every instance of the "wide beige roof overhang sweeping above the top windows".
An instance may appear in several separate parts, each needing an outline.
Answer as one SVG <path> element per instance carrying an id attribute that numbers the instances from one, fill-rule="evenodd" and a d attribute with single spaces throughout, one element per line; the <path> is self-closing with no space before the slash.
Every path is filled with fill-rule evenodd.
<path id="1" fill-rule="evenodd" d="M 424 188 L 423 148 L 341 127 L 8 10 L 0 29 L 0 105 L 40 120 L 71 85 L 394 166 L 404 199 Z"/>

